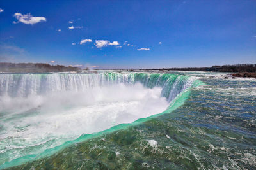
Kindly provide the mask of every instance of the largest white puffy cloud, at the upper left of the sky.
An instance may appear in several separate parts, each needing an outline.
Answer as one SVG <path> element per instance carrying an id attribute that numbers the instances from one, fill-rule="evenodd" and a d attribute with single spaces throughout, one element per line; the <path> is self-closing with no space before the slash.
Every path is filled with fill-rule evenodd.
<path id="1" fill-rule="evenodd" d="M 24 14 L 22 15 L 21 13 L 15 13 L 13 15 L 13 17 L 15 17 L 18 21 L 15 22 L 13 21 L 14 24 L 18 23 L 18 22 L 22 22 L 24 24 L 36 24 L 38 22 L 44 22 L 46 21 L 45 17 L 33 17 L 32 15 L 30 15 L 30 13 Z"/>

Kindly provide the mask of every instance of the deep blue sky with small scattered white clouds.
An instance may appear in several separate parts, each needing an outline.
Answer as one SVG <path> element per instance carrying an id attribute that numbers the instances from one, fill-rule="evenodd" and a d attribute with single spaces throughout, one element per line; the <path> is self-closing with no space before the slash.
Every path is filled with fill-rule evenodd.
<path id="1" fill-rule="evenodd" d="M 10 0 L 0 8 L 0 62 L 103 69 L 256 63 L 256 1 Z"/>

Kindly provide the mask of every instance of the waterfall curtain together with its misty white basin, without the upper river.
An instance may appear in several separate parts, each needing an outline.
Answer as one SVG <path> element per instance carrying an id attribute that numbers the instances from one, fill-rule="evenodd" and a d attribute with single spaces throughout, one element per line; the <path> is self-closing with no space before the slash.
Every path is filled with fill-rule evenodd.
<path id="1" fill-rule="evenodd" d="M 196 83 L 175 74 L 0 74 L 0 167 L 161 113 Z"/>

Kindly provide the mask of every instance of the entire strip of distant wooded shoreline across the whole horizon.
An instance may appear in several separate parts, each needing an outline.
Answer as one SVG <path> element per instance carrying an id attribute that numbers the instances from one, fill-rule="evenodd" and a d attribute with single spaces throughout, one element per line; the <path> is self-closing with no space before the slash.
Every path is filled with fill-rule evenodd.
<path id="1" fill-rule="evenodd" d="M 51 65 L 45 63 L 10 63 L 0 62 L 0 73 L 49 73 L 82 71 L 79 67 Z M 88 68 L 84 69 L 88 70 Z M 95 69 L 98 70 L 98 69 Z M 102 69 L 104 70 L 104 69 Z M 108 70 L 108 69 L 107 69 Z M 184 67 L 184 68 L 161 68 L 161 69 L 111 69 L 126 71 L 213 71 L 229 72 L 233 77 L 253 77 L 256 78 L 256 64 L 235 64 L 212 67 Z"/>

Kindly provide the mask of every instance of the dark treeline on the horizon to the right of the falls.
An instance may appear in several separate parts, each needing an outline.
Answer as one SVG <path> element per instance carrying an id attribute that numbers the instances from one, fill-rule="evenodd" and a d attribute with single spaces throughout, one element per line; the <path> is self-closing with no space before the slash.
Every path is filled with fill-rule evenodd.
<path id="1" fill-rule="evenodd" d="M 218 72 L 256 72 L 256 64 L 236 64 L 212 67 L 162 68 L 140 70 L 177 70 L 177 71 L 218 71 Z"/>

